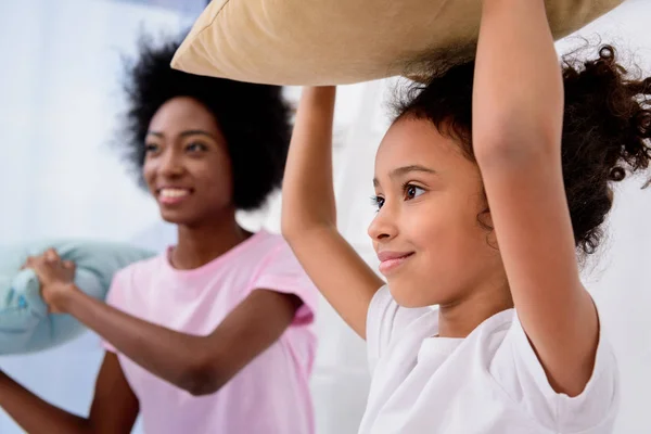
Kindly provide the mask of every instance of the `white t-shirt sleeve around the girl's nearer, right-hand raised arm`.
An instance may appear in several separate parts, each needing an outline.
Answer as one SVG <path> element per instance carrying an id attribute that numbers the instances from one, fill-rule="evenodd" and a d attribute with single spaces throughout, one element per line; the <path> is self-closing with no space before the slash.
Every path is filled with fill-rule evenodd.
<path id="1" fill-rule="evenodd" d="M 620 400 L 617 363 L 602 328 L 592 375 L 578 396 L 553 391 L 516 314 L 490 372 L 529 416 L 554 432 L 610 432 L 614 423 Z"/>

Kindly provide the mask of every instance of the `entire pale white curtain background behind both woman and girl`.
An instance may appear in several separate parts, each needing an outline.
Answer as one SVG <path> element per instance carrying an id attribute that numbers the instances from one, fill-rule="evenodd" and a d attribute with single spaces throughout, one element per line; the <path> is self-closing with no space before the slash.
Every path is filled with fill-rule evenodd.
<path id="1" fill-rule="evenodd" d="M 143 3 L 143 4 L 139 4 Z M 145 4 L 149 3 L 149 4 Z M 154 4 L 156 3 L 156 4 Z M 122 108 L 119 55 L 130 53 L 141 27 L 176 31 L 203 1 L 26 0 L 0 4 L 0 242 L 44 237 L 101 237 L 162 247 L 174 242 L 155 206 L 128 178 L 107 143 Z M 201 3 L 201 4 L 200 4 Z M 183 4 L 183 11 L 175 10 Z M 629 47 L 651 73 L 651 2 L 628 0 L 582 31 Z M 571 39 L 559 43 L 563 52 Z M 375 266 L 366 228 L 375 149 L 387 127 L 384 103 L 393 80 L 340 89 L 335 182 L 340 226 Z M 288 89 L 295 100 L 299 89 Z M 622 371 L 616 434 L 651 430 L 651 190 L 629 181 L 617 192 L 610 241 L 585 276 L 613 341 Z M 242 222 L 279 229 L 280 197 Z M 644 268 L 647 267 L 647 268 Z M 312 392 L 320 434 L 356 432 L 369 376 L 363 343 L 321 303 L 320 347 Z M 101 350 L 88 333 L 61 348 L 0 358 L 0 368 L 50 401 L 86 414 Z M 0 433 L 20 430 L 1 414 Z M 137 430 L 138 432 L 138 430 Z"/>

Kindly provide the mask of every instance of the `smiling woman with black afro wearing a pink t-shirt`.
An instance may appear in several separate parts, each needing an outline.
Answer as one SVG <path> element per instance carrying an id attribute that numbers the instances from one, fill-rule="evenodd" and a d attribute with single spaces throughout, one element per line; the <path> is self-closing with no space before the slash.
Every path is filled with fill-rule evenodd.
<path id="1" fill-rule="evenodd" d="M 74 288 L 55 252 L 30 258 L 52 311 L 106 343 L 88 418 L 0 374 L 0 406 L 29 433 L 312 433 L 317 291 L 280 235 L 248 233 L 289 146 L 281 90 L 169 68 L 143 46 L 130 69 L 129 148 L 178 244 L 120 271 L 108 305 Z M 110 186 L 106 186 L 110 188 Z"/>

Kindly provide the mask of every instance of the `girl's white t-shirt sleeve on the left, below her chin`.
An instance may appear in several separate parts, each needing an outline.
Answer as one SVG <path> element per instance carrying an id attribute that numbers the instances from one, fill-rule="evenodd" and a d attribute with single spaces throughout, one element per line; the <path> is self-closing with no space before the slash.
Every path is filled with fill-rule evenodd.
<path id="1" fill-rule="evenodd" d="M 387 285 L 378 290 L 367 312 L 366 341 L 371 374 L 394 337 L 399 336 L 409 324 L 432 311 L 431 307 L 407 308 L 398 305 Z"/>

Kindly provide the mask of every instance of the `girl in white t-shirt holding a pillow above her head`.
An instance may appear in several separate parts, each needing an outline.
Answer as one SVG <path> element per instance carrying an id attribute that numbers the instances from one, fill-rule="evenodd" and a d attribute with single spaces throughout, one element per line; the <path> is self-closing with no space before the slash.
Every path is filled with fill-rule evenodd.
<path id="1" fill-rule="evenodd" d="M 610 433 L 617 369 L 577 259 L 610 183 L 648 167 L 651 78 L 610 47 L 561 71 L 542 0 L 483 0 L 476 61 L 435 77 L 376 154 L 387 285 L 335 228 L 334 89 L 305 90 L 290 146 L 283 234 L 368 344 L 359 432 Z"/>

